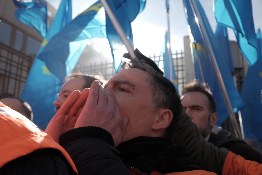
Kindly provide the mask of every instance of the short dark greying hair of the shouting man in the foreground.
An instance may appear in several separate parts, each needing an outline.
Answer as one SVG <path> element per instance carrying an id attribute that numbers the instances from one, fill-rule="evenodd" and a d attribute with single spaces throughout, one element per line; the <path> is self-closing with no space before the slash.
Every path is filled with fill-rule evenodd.
<path id="1" fill-rule="evenodd" d="M 171 81 L 159 74 L 143 60 L 139 61 L 137 59 L 133 59 L 130 63 L 124 63 L 122 65 L 122 69 L 129 68 L 141 69 L 149 75 L 146 82 L 151 88 L 153 96 L 153 110 L 162 107 L 172 111 L 173 119 L 165 130 L 165 137 L 172 138 L 175 134 L 178 120 L 183 108 L 175 86 L 171 83 Z"/>

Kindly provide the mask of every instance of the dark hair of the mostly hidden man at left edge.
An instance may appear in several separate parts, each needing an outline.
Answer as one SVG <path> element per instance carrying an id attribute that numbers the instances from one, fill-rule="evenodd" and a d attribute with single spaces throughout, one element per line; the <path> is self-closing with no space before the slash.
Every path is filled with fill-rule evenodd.
<path id="1" fill-rule="evenodd" d="M 14 97 L 12 94 L 1 94 L 0 99 L 10 98 L 20 101 L 22 107 L 22 115 L 24 115 L 29 120 L 33 121 L 33 111 L 31 106 L 24 100 Z"/>

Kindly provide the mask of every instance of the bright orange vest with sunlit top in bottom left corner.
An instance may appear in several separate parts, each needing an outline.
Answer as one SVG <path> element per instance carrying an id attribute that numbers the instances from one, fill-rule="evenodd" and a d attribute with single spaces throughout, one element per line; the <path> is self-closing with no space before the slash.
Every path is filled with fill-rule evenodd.
<path id="1" fill-rule="evenodd" d="M 77 174 L 66 150 L 29 119 L 0 102 L 0 167 L 41 148 L 54 148 L 63 154 Z"/>

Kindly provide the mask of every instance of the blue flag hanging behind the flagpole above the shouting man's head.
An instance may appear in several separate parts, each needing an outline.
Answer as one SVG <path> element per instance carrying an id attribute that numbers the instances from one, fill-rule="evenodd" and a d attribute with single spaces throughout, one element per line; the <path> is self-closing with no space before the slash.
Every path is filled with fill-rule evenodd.
<path id="1" fill-rule="evenodd" d="M 138 13 L 144 10 L 146 0 L 108 0 L 107 2 L 116 15 L 116 18 L 121 24 L 126 36 L 128 37 L 133 47 L 133 34 L 130 23 L 137 17 Z M 123 57 L 123 53 L 119 52 L 122 51 L 120 47 L 123 45 L 123 43 L 116 33 L 116 30 L 111 23 L 108 15 L 106 15 L 106 32 L 112 52 L 112 57 L 114 59 L 114 67 L 116 72 L 118 72 Z"/>

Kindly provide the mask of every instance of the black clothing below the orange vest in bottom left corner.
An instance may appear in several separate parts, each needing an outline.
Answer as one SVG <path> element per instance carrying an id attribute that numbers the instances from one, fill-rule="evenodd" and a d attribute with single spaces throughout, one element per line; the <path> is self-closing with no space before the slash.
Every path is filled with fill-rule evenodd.
<path id="1" fill-rule="evenodd" d="M 60 151 L 43 148 L 12 160 L 0 168 L 1 175 L 72 175 L 76 174 Z"/>

